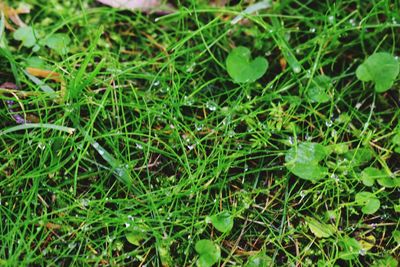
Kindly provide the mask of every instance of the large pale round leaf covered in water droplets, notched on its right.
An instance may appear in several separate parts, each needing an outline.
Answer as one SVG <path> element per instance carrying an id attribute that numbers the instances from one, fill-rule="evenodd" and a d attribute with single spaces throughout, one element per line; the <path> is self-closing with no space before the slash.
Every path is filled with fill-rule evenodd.
<path id="1" fill-rule="evenodd" d="M 327 173 L 327 168 L 319 165 L 327 155 L 326 148 L 318 143 L 303 142 L 296 147 L 292 147 L 286 153 L 286 167 L 294 175 L 316 182 Z"/>

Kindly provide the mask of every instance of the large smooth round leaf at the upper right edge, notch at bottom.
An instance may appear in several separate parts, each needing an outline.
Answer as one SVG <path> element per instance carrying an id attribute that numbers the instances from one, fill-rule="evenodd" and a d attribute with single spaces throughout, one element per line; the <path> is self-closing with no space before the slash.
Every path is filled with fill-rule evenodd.
<path id="1" fill-rule="evenodd" d="M 356 75 L 363 82 L 375 83 L 375 91 L 382 93 L 393 86 L 399 75 L 399 62 L 389 53 L 375 53 L 358 66 Z"/>

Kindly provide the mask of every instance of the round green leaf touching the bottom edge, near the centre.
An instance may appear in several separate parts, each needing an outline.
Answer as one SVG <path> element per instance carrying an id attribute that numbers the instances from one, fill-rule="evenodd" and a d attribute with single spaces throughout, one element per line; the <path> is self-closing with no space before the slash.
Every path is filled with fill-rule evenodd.
<path id="1" fill-rule="evenodd" d="M 199 259 L 197 260 L 197 266 L 199 267 L 211 267 L 221 258 L 219 246 L 208 239 L 197 241 L 195 250 L 199 254 Z"/>

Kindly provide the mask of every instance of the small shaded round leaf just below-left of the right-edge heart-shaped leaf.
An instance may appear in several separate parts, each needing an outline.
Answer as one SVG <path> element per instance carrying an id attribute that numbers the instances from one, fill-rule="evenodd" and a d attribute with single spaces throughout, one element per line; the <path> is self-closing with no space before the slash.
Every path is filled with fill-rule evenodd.
<path id="1" fill-rule="evenodd" d="M 330 100 L 328 90 L 332 86 L 332 79 L 325 75 L 316 76 L 312 79 L 307 91 L 307 97 L 311 102 L 325 103 Z"/>

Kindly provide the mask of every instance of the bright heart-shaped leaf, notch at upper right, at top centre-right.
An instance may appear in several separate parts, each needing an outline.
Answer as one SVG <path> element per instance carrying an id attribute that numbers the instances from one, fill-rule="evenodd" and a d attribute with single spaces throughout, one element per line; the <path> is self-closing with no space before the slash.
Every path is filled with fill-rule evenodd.
<path id="1" fill-rule="evenodd" d="M 268 69 L 268 61 L 262 57 L 250 59 L 250 50 L 239 46 L 226 59 L 228 74 L 236 83 L 250 83 L 260 79 Z"/>

